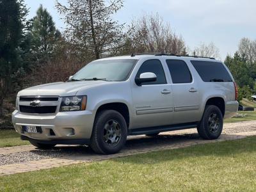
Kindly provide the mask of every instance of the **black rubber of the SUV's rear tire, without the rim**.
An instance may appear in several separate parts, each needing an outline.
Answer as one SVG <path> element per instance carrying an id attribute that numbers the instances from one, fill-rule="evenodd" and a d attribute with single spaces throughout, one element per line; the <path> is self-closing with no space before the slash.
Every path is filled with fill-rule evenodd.
<path id="1" fill-rule="evenodd" d="M 216 113 L 218 115 L 218 118 L 220 119 L 220 127 L 217 132 L 211 132 L 208 126 L 208 120 L 211 113 Z M 220 109 L 217 106 L 207 106 L 205 109 L 204 117 L 203 117 L 203 125 L 202 129 L 204 129 L 204 132 L 210 140 L 216 140 L 220 137 L 222 129 L 223 129 L 223 115 L 220 111 Z"/>

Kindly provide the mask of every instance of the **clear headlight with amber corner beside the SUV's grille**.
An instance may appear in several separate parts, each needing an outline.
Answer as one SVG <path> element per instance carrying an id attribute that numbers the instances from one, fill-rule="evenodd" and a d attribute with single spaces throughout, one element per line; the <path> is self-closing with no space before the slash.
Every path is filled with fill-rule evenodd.
<path id="1" fill-rule="evenodd" d="M 62 97 L 60 111 L 83 111 L 86 102 L 86 96 Z"/>

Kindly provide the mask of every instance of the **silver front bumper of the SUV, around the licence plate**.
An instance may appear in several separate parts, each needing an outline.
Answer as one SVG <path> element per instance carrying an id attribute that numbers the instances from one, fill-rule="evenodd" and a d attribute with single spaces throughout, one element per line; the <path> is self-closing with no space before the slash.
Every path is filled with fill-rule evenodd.
<path id="1" fill-rule="evenodd" d="M 41 143 L 45 141 L 65 144 L 72 140 L 74 144 L 79 144 L 78 141 L 88 141 L 92 135 L 93 120 L 94 115 L 91 111 L 59 112 L 54 115 L 31 115 L 17 110 L 12 113 L 14 128 L 21 138 Z M 41 127 L 42 133 L 24 132 L 22 126 L 25 125 Z"/>

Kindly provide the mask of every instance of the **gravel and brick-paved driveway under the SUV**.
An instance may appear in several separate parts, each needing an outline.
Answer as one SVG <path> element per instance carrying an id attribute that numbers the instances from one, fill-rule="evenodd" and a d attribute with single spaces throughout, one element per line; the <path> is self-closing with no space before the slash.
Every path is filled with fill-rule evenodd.
<path id="1" fill-rule="evenodd" d="M 129 136 L 124 149 L 119 154 L 109 156 L 94 154 L 91 148 L 87 146 L 58 145 L 51 150 L 38 150 L 31 145 L 6 147 L 0 148 L 0 175 L 29 172 L 66 164 L 100 161 L 156 150 L 188 147 L 198 143 L 234 140 L 254 135 L 256 135 L 256 121 L 250 121 L 225 124 L 220 139 L 214 141 L 200 139 L 196 129 L 163 132 L 157 137 Z"/>

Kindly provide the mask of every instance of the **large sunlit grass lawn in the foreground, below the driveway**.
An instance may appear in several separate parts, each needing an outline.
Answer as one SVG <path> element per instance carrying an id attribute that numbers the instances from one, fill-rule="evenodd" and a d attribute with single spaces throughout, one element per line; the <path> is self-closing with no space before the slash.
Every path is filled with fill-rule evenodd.
<path id="1" fill-rule="evenodd" d="M 0 191 L 256 191 L 256 137 L 0 177 Z"/>

